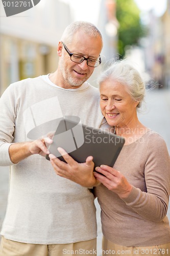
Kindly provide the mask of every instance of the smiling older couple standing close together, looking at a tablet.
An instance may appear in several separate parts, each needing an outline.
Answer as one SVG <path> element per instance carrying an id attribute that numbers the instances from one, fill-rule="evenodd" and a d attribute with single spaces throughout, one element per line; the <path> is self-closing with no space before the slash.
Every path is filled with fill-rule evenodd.
<path id="1" fill-rule="evenodd" d="M 58 44 L 58 69 L 11 84 L 0 99 L 0 165 L 10 166 L 1 256 L 96 255 L 94 197 L 101 206 L 103 255 L 170 253 L 167 147 L 137 118 L 145 84 L 131 63 L 113 62 L 100 75 L 99 90 L 86 81 L 101 63 L 102 47 L 93 24 L 70 24 Z M 49 111 L 50 102 L 58 108 Z M 125 138 L 113 167 L 93 172 L 91 156 L 80 164 L 62 148 L 66 162 L 51 154 L 45 159 L 52 139 L 30 139 L 29 132 L 42 120 L 71 115 L 95 128 L 107 123 Z"/>

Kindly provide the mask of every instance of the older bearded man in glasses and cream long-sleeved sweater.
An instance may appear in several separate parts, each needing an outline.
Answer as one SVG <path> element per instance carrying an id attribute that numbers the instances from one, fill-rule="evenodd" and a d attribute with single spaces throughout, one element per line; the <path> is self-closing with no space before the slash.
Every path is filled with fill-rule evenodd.
<path id="1" fill-rule="evenodd" d="M 58 69 L 15 82 L 1 97 L 0 165 L 10 165 L 1 256 L 61 256 L 75 250 L 96 254 L 93 194 L 54 173 L 44 157 L 50 138 L 29 136 L 38 136 L 49 117 L 74 115 L 86 125 L 100 126 L 99 90 L 86 80 L 101 63 L 102 47 L 93 24 L 72 23 L 58 43 Z"/>

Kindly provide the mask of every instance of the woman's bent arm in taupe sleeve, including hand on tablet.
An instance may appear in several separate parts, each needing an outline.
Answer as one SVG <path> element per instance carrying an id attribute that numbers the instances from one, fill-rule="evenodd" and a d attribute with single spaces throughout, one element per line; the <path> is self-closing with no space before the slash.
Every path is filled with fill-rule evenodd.
<path id="1" fill-rule="evenodd" d="M 147 192 L 130 186 L 123 175 L 109 166 L 96 167 L 96 170 L 106 177 L 100 174 L 94 174 L 94 176 L 140 216 L 154 222 L 161 222 L 167 213 L 170 193 L 169 154 L 164 140 L 158 134 L 152 136 L 148 145 L 145 145 L 145 150 L 143 175 Z"/>

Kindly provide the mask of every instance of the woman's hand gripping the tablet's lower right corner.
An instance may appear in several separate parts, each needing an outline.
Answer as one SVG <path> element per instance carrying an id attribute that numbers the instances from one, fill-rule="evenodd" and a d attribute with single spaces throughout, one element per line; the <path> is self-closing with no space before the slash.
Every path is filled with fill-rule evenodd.
<path id="1" fill-rule="evenodd" d="M 132 190 L 132 185 L 129 184 L 125 176 L 118 172 L 118 170 L 107 165 L 96 167 L 95 170 L 98 173 L 94 172 L 94 177 L 103 183 L 109 190 L 116 193 L 122 199 L 129 196 Z"/>

